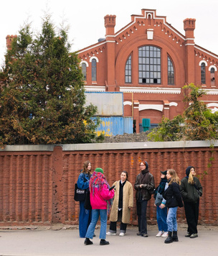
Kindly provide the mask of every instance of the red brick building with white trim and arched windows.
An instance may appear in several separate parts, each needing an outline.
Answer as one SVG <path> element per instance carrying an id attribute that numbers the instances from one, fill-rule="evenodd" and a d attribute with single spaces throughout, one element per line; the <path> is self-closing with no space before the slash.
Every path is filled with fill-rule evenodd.
<path id="1" fill-rule="evenodd" d="M 184 19 L 185 35 L 154 9 L 133 14 L 118 32 L 115 19 L 106 15 L 105 38 L 78 52 L 87 91 L 123 92 L 124 116 L 133 116 L 136 132 L 142 119 L 152 126 L 181 114 L 188 83 L 207 90 L 204 101 L 217 110 L 218 55 L 194 43 L 195 19 Z"/>

